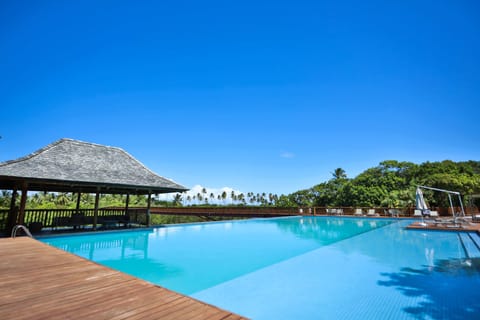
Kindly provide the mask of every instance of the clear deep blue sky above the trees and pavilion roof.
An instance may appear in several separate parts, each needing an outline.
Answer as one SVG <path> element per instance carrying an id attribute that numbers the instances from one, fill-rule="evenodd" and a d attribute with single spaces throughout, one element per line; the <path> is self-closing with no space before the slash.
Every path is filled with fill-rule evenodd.
<path id="1" fill-rule="evenodd" d="M 480 2 L 1 1 L 0 161 L 60 138 L 287 194 L 480 160 Z"/>

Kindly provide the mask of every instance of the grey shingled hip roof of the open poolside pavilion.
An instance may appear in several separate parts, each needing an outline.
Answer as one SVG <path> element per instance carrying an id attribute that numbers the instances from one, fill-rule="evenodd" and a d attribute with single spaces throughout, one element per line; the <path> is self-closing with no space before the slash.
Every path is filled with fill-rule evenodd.
<path id="1" fill-rule="evenodd" d="M 0 163 L 0 189 L 101 193 L 182 192 L 123 149 L 61 139 L 28 156 Z"/>

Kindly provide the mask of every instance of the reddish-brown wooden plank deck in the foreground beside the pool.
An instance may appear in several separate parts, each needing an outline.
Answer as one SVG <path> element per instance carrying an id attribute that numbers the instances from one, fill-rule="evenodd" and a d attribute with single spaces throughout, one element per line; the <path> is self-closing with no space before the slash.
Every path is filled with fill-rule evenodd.
<path id="1" fill-rule="evenodd" d="M 27 237 L 0 254 L 0 319 L 245 319 Z"/>

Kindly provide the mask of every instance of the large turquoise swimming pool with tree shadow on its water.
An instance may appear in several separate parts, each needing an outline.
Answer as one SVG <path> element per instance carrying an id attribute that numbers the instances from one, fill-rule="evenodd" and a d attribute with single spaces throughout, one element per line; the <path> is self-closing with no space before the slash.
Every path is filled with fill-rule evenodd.
<path id="1" fill-rule="evenodd" d="M 252 319 L 478 319 L 478 235 L 409 223 L 291 217 L 42 241 Z"/>

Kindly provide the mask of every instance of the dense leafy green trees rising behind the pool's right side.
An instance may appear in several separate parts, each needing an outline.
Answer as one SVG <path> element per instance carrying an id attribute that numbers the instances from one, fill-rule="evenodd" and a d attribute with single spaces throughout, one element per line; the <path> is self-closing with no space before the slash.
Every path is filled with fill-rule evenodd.
<path id="1" fill-rule="evenodd" d="M 480 193 L 480 162 L 446 160 L 417 165 L 388 160 L 353 179 L 338 168 L 329 181 L 281 196 L 276 205 L 408 207 L 415 203 L 418 185 L 458 191 L 464 196 Z M 445 193 L 425 190 L 424 194 L 431 206 L 448 206 Z"/>

